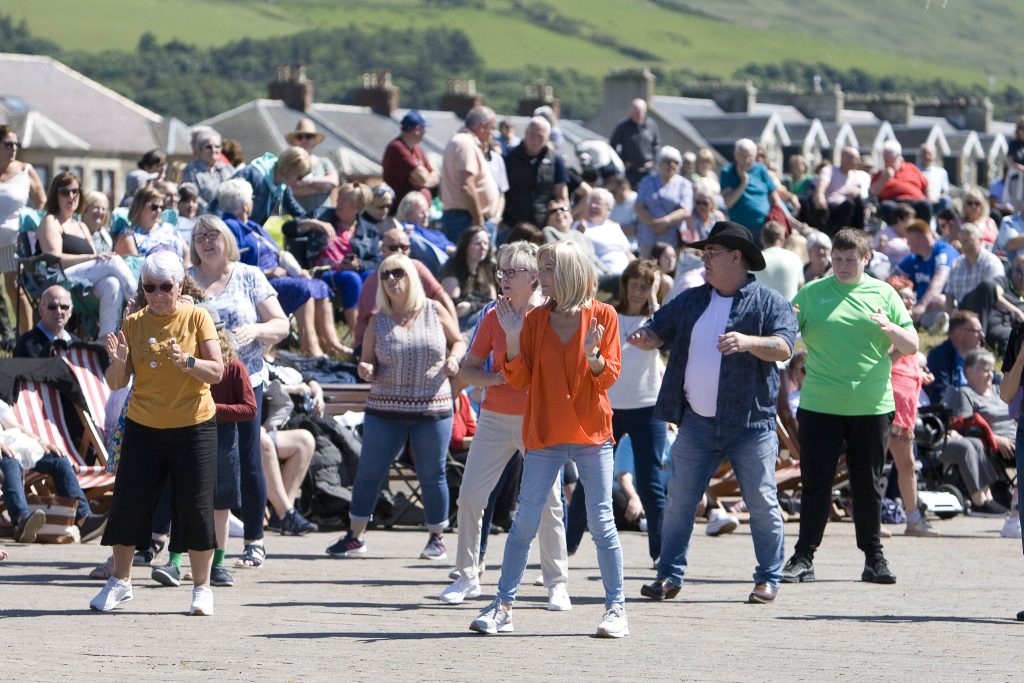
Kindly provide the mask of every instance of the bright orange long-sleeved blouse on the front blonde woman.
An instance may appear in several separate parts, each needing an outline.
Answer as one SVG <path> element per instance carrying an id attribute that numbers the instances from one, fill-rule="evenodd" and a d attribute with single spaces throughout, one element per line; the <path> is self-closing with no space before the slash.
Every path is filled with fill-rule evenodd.
<path id="1" fill-rule="evenodd" d="M 604 443 L 611 438 L 608 387 L 618 379 L 622 369 L 618 316 L 608 304 L 593 301 L 582 311 L 580 329 L 564 345 L 548 324 L 550 316 L 550 305 L 529 311 L 519 333 L 519 355 L 512 360 L 502 357 L 508 383 L 529 389 L 522 421 L 523 444 L 527 451 L 536 451 L 559 443 Z M 590 372 L 583 348 L 595 317 L 604 326 L 600 343 L 604 369 L 598 375 Z"/>

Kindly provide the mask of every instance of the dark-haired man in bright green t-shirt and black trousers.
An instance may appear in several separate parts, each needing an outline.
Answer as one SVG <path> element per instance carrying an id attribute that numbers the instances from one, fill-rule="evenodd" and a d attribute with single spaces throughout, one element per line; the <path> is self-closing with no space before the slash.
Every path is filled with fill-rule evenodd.
<path id="1" fill-rule="evenodd" d="M 833 481 L 846 453 L 857 547 L 864 553 L 861 581 L 894 584 L 882 554 L 879 479 L 886 434 L 895 411 L 890 349 L 918 352 L 918 333 L 899 295 L 864 274 L 871 255 L 861 230 L 833 239 L 833 275 L 804 287 L 793 299 L 807 344 L 800 393 L 800 538 L 782 568 L 784 583 L 814 581 L 814 551 L 828 521 Z"/>

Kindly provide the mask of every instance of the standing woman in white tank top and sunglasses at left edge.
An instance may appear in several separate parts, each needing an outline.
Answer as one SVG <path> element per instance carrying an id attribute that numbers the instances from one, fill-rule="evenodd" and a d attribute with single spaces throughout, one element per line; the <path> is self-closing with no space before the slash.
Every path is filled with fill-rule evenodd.
<path id="1" fill-rule="evenodd" d="M 17 160 L 20 148 L 14 129 L 7 124 L 0 125 L 0 272 L 3 272 L 7 299 L 19 308 L 22 328 L 18 332 L 26 332 L 32 327 L 32 304 L 17 286 L 14 251 L 22 209 L 29 205 L 29 200 L 36 208 L 41 208 L 46 203 L 46 190 L 32 164 Z"/>

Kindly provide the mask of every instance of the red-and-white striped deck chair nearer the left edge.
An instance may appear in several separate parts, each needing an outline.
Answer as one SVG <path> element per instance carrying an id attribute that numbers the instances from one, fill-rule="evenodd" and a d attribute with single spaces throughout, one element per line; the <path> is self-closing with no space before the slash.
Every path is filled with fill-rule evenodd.
<path id="1" fill-rule="evenodd" d="M 91 419 L 88 419 L 88 415 L 85 415 L 82 409 L 78 410 L 86 420 L 83 421 L 84 434 L 80 447 L 71 437 L 65 420 L 63 405 L 60 402 L 60 393 L 53 386 L 42 382 L 23 381 L 22 390 L 12 408 L 19 424 L 61 449 L 72 460 L 75 473 L 78 475 L 78 483 L 82 486 L 86 498 L 90 500 L 101 498 L 114 487 L 114 475 L 105 469 L 106 451 Z M 82 455 L 89 446 L 95 450 L 97 461 L 95 465 L 86 464 Z M 40 493 L 44 478 L 44 475 L 38 472 L 28 472 L 26 487 L 36 487 L 39 489 L 37 493 Z"/>

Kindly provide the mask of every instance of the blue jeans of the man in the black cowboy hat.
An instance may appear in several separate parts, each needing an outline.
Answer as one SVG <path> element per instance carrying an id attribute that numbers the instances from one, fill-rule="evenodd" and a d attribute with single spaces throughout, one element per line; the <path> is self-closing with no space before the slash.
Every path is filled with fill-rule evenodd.
<path id="1" fill-rule="evenodd" d="M 657 575 L 682 585 L 697 503 L 725 458 L 736 473 L 743 503 L 751 513 L 751 537 L 758 560 L 754 582 L 778 586 L 785 552 L 775 486 L 778 437 L 774 430 L 766 429 L 722 432 L 714 418 L 692 411 L 683 415 L 679 436 L 672 445 L 672 479 L 662 522 Z"/>

